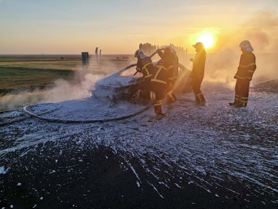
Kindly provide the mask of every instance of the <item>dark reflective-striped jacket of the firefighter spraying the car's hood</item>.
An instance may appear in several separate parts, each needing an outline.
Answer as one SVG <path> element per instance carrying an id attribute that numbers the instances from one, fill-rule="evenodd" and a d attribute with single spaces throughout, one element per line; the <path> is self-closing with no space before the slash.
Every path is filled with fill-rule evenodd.
<path id="1" fill-rule="evenodd" d="M 145 79 L 151 79 L 154 72 L 154 65 L 150 57 L 145 54 L 139 54 L 136 70 L 142 72 Z"/>

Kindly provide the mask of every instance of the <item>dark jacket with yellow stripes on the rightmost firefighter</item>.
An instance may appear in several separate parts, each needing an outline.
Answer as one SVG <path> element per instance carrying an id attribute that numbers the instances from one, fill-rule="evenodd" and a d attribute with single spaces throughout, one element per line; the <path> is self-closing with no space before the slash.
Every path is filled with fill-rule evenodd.
<path id="1" fill-rule="evenodd" d="M 252 52 L 243 52 L 240 56 L 238 72 L 235 74 L 235 79 L 242 79 L 247 81 L 252 80 L 253 73 L 256 69 L 256 58 Z"/>

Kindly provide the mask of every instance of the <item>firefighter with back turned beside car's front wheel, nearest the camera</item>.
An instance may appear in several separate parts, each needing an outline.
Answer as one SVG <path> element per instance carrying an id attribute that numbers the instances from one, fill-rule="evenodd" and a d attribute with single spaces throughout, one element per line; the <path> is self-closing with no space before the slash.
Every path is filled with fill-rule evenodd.
<path id="1" fill-rule="evenodd" d="M 166 115 L 162 112 L 162 99 L 167 87 L 172 81 L 170 79 L 173 77 L 173 72 L 174 62 L 172 59 L 172 49 L 165 48 L 162 59 L 154 67 L 154 73 L 151 79 L 152 91 L 150 92 L 150 98 L 156 100 L 154 112 L 157 115 Z"/>

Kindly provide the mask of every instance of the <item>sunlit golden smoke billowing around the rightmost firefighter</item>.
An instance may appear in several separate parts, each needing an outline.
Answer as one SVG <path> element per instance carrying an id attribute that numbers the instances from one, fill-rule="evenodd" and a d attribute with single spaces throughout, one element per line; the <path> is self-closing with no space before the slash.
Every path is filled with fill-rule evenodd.
<path id="1" fill-rule="evenodd" d="M 254 48 L 257 69 L 253 81 L 262 81 L 278 77 L 278 14 L 271 11 L 259 11 L 238 28 L 221 30 L 216 34 L 215 53 L 206 57 L 202 89 L 234 89 L 234 75 L 240 60 L 239 43 L 248 40 Z M 185 66 L 192 69 L 188 54 Z"/>

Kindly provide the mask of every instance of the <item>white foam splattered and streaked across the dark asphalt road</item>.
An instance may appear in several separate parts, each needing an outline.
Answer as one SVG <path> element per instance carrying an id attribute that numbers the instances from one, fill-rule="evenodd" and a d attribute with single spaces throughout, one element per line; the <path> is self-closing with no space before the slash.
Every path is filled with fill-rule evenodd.
<path id="1" fill-rule="evenodd" d="M 177 102 L 162 107 L 167 112 L 166 117 L 154 117 L 151 108 L 141 115 L 116 122 L 55 124 L 32 119 L 32 124 L 26 126 L 25 121 L 17 124 L 17 128 L 19 133 L 26 134 L 6 139 L 14 139 L 15 146 L 1 150 L 0 155 L 2 158 L 2 154 L 29 147 L 23 153 L 19 152 L 19 155 L 26 156 L 33 151 L 33 146 L 50 141 L 67 143 L 70 140 L 76 142 L 73 148 L 80 150 L 101 145 L 123 159 L 124 165 L 119 166 L 124 170 L 131 169 L 136 176 L 134 185 L 138 187 L 146 184 L 137 171 L 138 164 L 141 165 L 140 169 L 153 177 L 147 185 L 162 198 L 156 185 L 182 189 L 193 184 L 212 193 L 217 187 L 240 196 L 241 192 L 233 187 L 237 179 L 247 188 L 257 187 L 248 194 L 251 198 L 254 193 L 265 193 L 276 197 L 278 203 L 278 171 L 275 169 L 278 147 L 274 141 L 277 133 L 274 104 L 278 95 L 252 94 L 248 108 L 230 107 L 227 98 L 231 101 L 234 98 L 234 92 L 230 90 L 223 89 L 217 94 L 204 91 L 204 96 L 208 102 L 201 107 L 188 102 L 193 99 L 192 94 L 179 96 Z M 266 99 L 268 102 L 262 107 L 260 104 Z M 128 115 L 144 108 L 125 102 L 111 107 L 91 98 L 61 104 L 61 109 L 45 117 L 103 119 Z M 2 130 L 16 132 L 15 126 Z M 3 132 L 0 134 L 3 136 Z M 60 155 L 62 153 L 61 148 Z M 131 163 L 131 159 L 137 161 L 137 166 Z M 230 188 L 224 186 L 229 184 L 232 185 Z M 219 198 L 217 194 L 221 192 L 216 192 L 213 197 Z"/>

